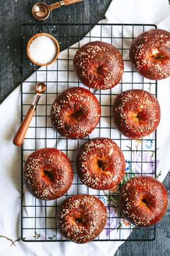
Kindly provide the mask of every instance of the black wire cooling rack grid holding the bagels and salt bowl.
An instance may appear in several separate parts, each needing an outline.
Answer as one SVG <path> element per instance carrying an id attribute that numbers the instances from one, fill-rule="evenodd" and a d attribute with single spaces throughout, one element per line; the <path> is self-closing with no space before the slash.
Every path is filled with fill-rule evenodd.
<path id="1" fill-rule="evenodd" d="M 92 29 L 96 26 L 97 33 Z M 126 176 L 132 177 L 134 174 L 147 174 L 156 176 L 156 132 L 143 140 L 129 140 L 120 135 L 112 122 L 112 103 L 117 94 L 123 90 L 140 88 L 151 91 L 157 96 L 157 83 L 147 80 L 135 72 L 130 64 L 128 51 L 133 39 L 143 31 L 155 28 L 155 25 L 133 25 L 133 24 L 48 24 L 48 25 L 22 25 L 21 29 L 21 69 L 22 69 L 22 119 L 26 114 L 28 106 L 32 103 L 35 94 L 35 83 L 45 82 L 47 92 L 40 99 L 37 111 L 32 120 L 27 137 L 22 145 L 22 171 L 25 160 L 32 151 L 40 148 L 57 147 L 63 150 L 73 165 L 73 184 L 66 195 L 58 200 L 45 202 L 37 200 L 24 186 L 22 176 L 22 240 L 27 242 L 51 242 L 66 241 L 56 229 L 56 216 L 58 207 L 66 197 L 79 193 L 87 193 L 99 197 L 107 205 L 107 226 L 104 231 L 94 241 L 148 241 L 153 240 L 156 234 L 155 226 L 145 229 L 129 225 L 122 222 L 120 211 L 117 205 L 112 204 L 114 198 L 112 192 L 89 189 L 82 184 L 76 175 L 75 156 L 76 150 L 89 138 L 109 137 L 120 146 L 126 159 Z M 90 32 L 89 32 L 90 31 Z M 50 33 L 61 45 L 61 51 L 66 49 L 60 56 L 53 69 L 51 67 L 39 67 L 32 64 L 26 55 L 27 41 L 35 33 Z M 81 42 L 84 38 L 84 42 Z M 63 90 L 73 86 L 82 86 L 73 71 L 73 56 L 78 48 L 84 43 L 92 40 L 103 40 L 111 43 L 120 50 L 125 63 L 125 73 L 120 84 L 112 90 L 91 90 L 102 106 L 102 117 L 99 125 L 88 137 L 81 140 L 66 140 L 58 135 L 50 124 L 50 108 L 56 95 Z M 78 42 L 78 43 L 76 43 Z M 25 80 L 33 72 L 31 79 Z M 49 79 L 50 76 L 50 79 Z M 40 79 L 42 77 L 42 79 Z M 109 200 L 109 205 L 108 201 Z M 115 213 L 116 212 L 116 213 Z M 121 223 L 121 225 L 120 225 Z M 126 239 L 125 232 L 130 234 Z"/>

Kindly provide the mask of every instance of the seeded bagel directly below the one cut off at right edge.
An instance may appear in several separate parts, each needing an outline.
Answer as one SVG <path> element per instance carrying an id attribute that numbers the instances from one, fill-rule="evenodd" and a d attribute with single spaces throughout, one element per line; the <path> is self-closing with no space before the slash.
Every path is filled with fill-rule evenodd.
<path id="1" fill-rule="evenodd" d="M 113 103 L 115 126 L 131 139 L 150 135 L 158 127 L 160 118 L 158 100 L 145 90 L 125 90 Z"/>

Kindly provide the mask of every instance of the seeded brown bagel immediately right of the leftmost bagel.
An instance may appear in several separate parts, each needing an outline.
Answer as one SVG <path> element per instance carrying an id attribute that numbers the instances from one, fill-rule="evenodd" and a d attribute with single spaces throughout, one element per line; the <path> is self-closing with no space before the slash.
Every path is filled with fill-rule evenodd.
<path id="1" fill-rule="evenodd" d="M 125 158 L 115 142 L 95 138 L 79 148 L 76 168 L 81 182 L 93 189 L 111 189 L 125 174 Z"/>

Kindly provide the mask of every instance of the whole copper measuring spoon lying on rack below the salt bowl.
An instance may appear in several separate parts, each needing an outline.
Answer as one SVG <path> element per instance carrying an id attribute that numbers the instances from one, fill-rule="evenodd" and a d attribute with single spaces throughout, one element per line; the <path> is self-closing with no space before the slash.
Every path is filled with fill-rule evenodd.
<path id="1" fill-rule="evenodd" d="M 29 110 L 27 111 L 27 114 L 24 117 L 24 120 L 22 121 L 22 124 L 20 125 L 19 129 L 17 130 L 16 135 L 14 136 L 13 143 L 17 147 L 22 145 L 24 137 L 27 133 L 27 129 L 29 128 L 30 122 L 32 121 L 32 117 L 35 114 L 37 103 L 40 100 L 42 93 L 45 93 L 46 85 L 43 82 L 37 82 L 37 85 L 35 85 L 35 90 L 36 90 L 35 99 L 32 105 L 30 106 Z"/>

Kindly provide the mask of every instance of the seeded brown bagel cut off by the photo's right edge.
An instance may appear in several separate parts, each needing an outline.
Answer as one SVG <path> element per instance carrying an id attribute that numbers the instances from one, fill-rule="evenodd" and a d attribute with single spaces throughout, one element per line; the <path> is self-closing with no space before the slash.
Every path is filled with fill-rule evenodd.
<path id="1" fill-rule="evenodd" d="M 170 33 L 152 29 L 135 38 L 130 60 L 143 77 L 161 80 L 170 75 Z"/>

